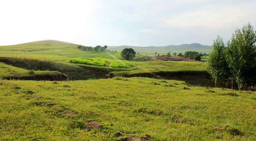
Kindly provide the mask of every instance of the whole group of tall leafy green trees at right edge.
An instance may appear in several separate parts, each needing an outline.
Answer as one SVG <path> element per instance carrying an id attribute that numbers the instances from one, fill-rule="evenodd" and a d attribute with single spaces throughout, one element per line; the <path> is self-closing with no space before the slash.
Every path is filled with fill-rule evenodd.
<path id="1" fill-rule="evenodd" d="M 255 42 L 256 31 L 250 23 L 236 29 L 226 45 L 221 36 L 213 41 L 207 71 L 215 80 L 215 87 L 224 83 L 232 89 L 236 86 L 247 90 L 256 85 Z"/>

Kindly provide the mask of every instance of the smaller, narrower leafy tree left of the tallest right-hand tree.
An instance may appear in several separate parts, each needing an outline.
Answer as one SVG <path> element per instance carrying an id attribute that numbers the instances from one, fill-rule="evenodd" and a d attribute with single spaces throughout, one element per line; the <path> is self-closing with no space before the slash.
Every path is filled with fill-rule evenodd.
<path id="1" fill-rule="evenodd" d="M 212 52 L 210 53 L 207 71 L 215 81 L 215 87 L 217 87 L 217 81 L 227 82 L 229 77 L 229 68 L 225 59 L 225 45 L 223 39 L 220 36 L 213 41 Z"/>

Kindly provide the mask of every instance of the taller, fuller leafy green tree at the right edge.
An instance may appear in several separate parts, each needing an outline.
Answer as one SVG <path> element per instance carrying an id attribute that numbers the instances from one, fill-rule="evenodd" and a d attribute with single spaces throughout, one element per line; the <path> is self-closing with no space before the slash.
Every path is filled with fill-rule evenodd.
<path id="1" fill-rule="evenodd" d="M 256 77 L 256 32 L 250 23 L 236 29 L 227 43 L 227 62 L 239 90 L 255 85 Z"/>

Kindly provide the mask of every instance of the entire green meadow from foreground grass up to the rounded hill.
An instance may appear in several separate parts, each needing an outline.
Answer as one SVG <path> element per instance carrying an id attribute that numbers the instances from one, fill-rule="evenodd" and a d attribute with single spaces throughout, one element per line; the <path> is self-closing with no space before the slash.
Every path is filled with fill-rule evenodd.
<path id="1" fill-rule="evenodd" d="M 0 140 L 256 140 L 256 93 L 213 88 L 207 58 L 124 60 L 77 46 L 0 46 Z M 44 74 L 68 81 L 3 79 Z"/>

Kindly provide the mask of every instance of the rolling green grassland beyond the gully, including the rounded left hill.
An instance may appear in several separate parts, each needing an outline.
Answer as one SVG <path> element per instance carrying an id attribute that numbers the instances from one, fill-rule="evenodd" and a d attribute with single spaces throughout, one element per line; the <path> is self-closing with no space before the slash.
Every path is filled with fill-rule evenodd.
<path id="1" fill-rule="evenodd" d="M 141 57 L 141 55 L 138 56 Z M 36 71 L 59 71 L 66 74 L 71 80 L 104 78 L 110 72 L 122 75 L 156 71 L 205 71 L 206 66 L 206 63 L 203 62 L 147 61 L 137 58 L 125 61 L 118 52 L 81 51 L 77 49 L 75 44 L 55 40 L 0 46 L 0 57 L 13 58 L 16 62 L 23 60 L 23 62 L 18 61 L 22 65 L 9 61 L 12 62 L 9 65 L 19 68 Z M 78 58 L 80 63 L 87 65 L 73 64 L 78 63 Z M 81 60 L 81 58 L 86 58 L 87 61 Z M 96 64 L 93 63 L 92 60 L 95 61 L 99 58 L 101 61 L 98 60 Z M 34 59 L 34 61 L 28 61 L 29 59 Z M 69 63 L 69 60 L 72 60 L 70 62 L 73 63 Z M 41 65 L 38 65 L 38 62 L 42 62 Z M 45 63 L 47 67 L 42 68 L 42 64 Z"/>

